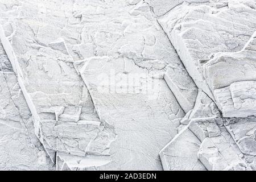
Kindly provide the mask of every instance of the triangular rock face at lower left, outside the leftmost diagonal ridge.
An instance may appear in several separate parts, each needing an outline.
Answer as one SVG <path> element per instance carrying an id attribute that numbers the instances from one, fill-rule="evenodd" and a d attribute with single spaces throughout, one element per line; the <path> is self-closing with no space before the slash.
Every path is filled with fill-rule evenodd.
<path id="1" fill-rule="evenodd" d="M 53 170 L 34 134 L 26 100 L 0 43 L 0 169 Z"/>

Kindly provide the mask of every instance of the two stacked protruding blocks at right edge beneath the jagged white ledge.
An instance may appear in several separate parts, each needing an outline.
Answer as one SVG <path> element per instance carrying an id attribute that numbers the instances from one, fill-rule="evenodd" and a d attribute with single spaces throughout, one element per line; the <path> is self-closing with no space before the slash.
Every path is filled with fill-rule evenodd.
<path id="1" fill-rule="evenodd" d="M 224 117 L 247 117 L 256 113 L 255 35 L 242 51 L 220 53 L 204 66 L 208 84 Z"/>

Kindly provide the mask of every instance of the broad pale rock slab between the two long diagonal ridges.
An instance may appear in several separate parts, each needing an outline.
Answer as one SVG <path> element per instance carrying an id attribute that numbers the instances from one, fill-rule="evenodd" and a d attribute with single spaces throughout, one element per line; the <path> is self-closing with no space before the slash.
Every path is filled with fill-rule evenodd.
<path id="1" fill-rule="evenodd" d="M 64 5 L 49 2 L 52 5 L 49 9 L 39 7 L 36 1 L 32 4 L 25 1 L 18 6 L 4 3 L 1 40 L 30 106 L 35 133 L 52 161 L 57 162 L 57 169 L 162 169 L 158 152 L 177 134 L 179 118 L 184 115 L 163 80 L 164 72 L 175 68 L 172 71 L 180 69 L 180 75 L 189 76 L 147 3 L 129 6 L 121 1 L 110 2 L 114 7 L 102 9 L 104 13 L 85 11 L 94 9 L 96 2 L 77 1 L 72 8 L 70 2 Z M 61 10 L 53 13 L 58 5 Z M 129 14 L 119 13 L 117 7 L 123 7 L 125 12 L 129 10 Z M 87 22 L 86 17 L 92 22 Z M 108 19 L 115 20 L 109 22 Z M 122 26 L 118 28 L 120 23 Z M 135 46 L 134 39 L 138 39 Z M 86 47 L 92 48 L 92 53 L 85 51 Z M 92 60 L 90 57 L 96 57 L 97 65 L 105 55 L 110 57 L 109 65 L 121 60 L 115 66 L 115 71 L 121 71 L 118 78 L 129 75 L 135 76 L 132 78 L 135 81 L 140 79 L 139 85 L 136 82 L 128 85 L 131 93 L 121 94 L 115 101 L 129 104 L 129 100 L 137 97 L 129 106 L 131 109 L 123 105 L 117 110 L 112 101 L 108 101 L 111 94 L 105 100 L 109 106 L 102 105 L 104 100 L 99 99 L 105 99 L 105 93 L 88 92 L 86 86 L 92 85 L 85 85 L 79 75 L 79 64 L 86 57 Z M 125 64 L 127 68 L 123 69 Z M 92 78 L 100 76 L 97 72 L 92 74 Z M 193 96 L 196 92 L 193 88 Z M 118 90 L 114 90 L 113 99 L 118 94 Z M 191 98 L 188 109 L 193 102 Z M 108 113 L 111 108 L 113 115 Z M 141 117 L 135 109 L 141 110 Z M 176 120 L 172 122 L 172 119 Z M 130 122 L 130 129 L 126 131 Z M 137 144 L 133 146 L 133 142 Z M 126 162 L 127 156 L 131 158 L 130 163 Z"/>

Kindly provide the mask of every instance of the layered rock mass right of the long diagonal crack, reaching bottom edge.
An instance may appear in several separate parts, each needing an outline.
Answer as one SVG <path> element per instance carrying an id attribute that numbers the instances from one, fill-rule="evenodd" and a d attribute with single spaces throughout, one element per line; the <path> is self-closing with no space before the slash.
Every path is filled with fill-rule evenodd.
<path id="1" fill-rule="evenodd" d="M 190 154 L 193 160 L 189 160 L 189 166 L 201 169 L 195 158 L 197 153 L 208 170 L 255 169 L 255 1 L 148 3 L 189 75 L 203 90 L 197 100 L 201 93 L 208 97 L 203 102 L 196 101 L 195 107 L 181 119 L 181 124 L 188 126 L 181 126 L 179 136 L 192 131 L 201 141 L 201 146 Z M 200 105 L 204 107 L 195 114 Z M 174 148 L 172 143 L 177 142 L 180 150 L 185 148 L 183 143 L 188 139 L 179 138 L 160 152 L 164 166 L 170 165 L 167 170 L 184 169 L 182 165 L 174 166 L 180 158 L 172 156 L 170 150 Z M 193 144 L 196 143 L 194 139 Z M 166 161 L 169 162 L 165 164 Z"/>

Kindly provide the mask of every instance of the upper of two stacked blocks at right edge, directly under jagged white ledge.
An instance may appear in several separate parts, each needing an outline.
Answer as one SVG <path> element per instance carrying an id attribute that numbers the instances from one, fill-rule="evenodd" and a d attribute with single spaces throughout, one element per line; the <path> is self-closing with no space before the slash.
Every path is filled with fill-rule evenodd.
<path id="1" fill-rule="evenodd" d="M 217 53 L 203 66 L 204 76 L 212 92 L 234 82 L 256 80 L 255 57 L 256 32 L 241 51 Z"/>

